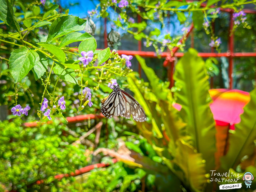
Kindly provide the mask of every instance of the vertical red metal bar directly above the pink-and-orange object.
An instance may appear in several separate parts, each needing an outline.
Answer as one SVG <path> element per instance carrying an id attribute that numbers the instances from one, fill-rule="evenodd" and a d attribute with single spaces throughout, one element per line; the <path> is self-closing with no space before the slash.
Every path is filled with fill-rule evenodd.
<path id="1" fill-rule="evenodd" d="M 229 41 L 228 41 L 228 48 L 230 52 L 229 56 L 229 89 L 233 88 L 233 53 L 234 53 L 234 34 L 231 35 L 231 31 L 233 29 L 233 12 L 230 12 L 229 16 Z"/>

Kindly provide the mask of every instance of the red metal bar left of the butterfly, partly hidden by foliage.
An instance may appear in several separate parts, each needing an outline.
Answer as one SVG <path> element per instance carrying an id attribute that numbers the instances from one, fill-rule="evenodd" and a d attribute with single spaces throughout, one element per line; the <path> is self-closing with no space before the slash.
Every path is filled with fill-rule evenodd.
<path id="1" fill-rule="evenodd" d="M 103 118 L 104 115 L 102 113 L 100 113 L 100 115 L 94 115 L 94 114 L 87 114 L 87 115 L 77 115 L 75 117 L 67 117 L 68 123 L 77 123 L 77 122 L 82 122 L 84 120 L 87 119 L 101 119 Z M 45 123 L 45 122 L 43 122 Z M 50 124 L 52 123 L 52 121 L 47 121 L 46 123 Z M 23 123 L 24 127 L 36 127 L 38 124 L 36 123 L 36 121 L 34 122 L 27 122 L 27 123 Z"/>

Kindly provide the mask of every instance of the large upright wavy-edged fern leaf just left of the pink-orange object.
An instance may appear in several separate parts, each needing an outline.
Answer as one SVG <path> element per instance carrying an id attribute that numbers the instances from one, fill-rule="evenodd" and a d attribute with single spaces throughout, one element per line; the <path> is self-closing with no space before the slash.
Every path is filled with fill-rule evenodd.
<path id="1" fill-rule="evenodd" d="M 196 67 L 195 67 L 196 66 Z M 187 132 L 191 136 L 193 146 L 206 160 L 206 171 L 214 168 L 215 153 L 215 121 L 209 104 L 209 76 L 204 60 L 198 52 L 189 48 L 178 61 L 173 79 L 182 87 L 176 91 L 177 103 L 182 105 L 181 117 L 187 123 Z M 212 170 L 212 169 L 211 169 Z"/>

